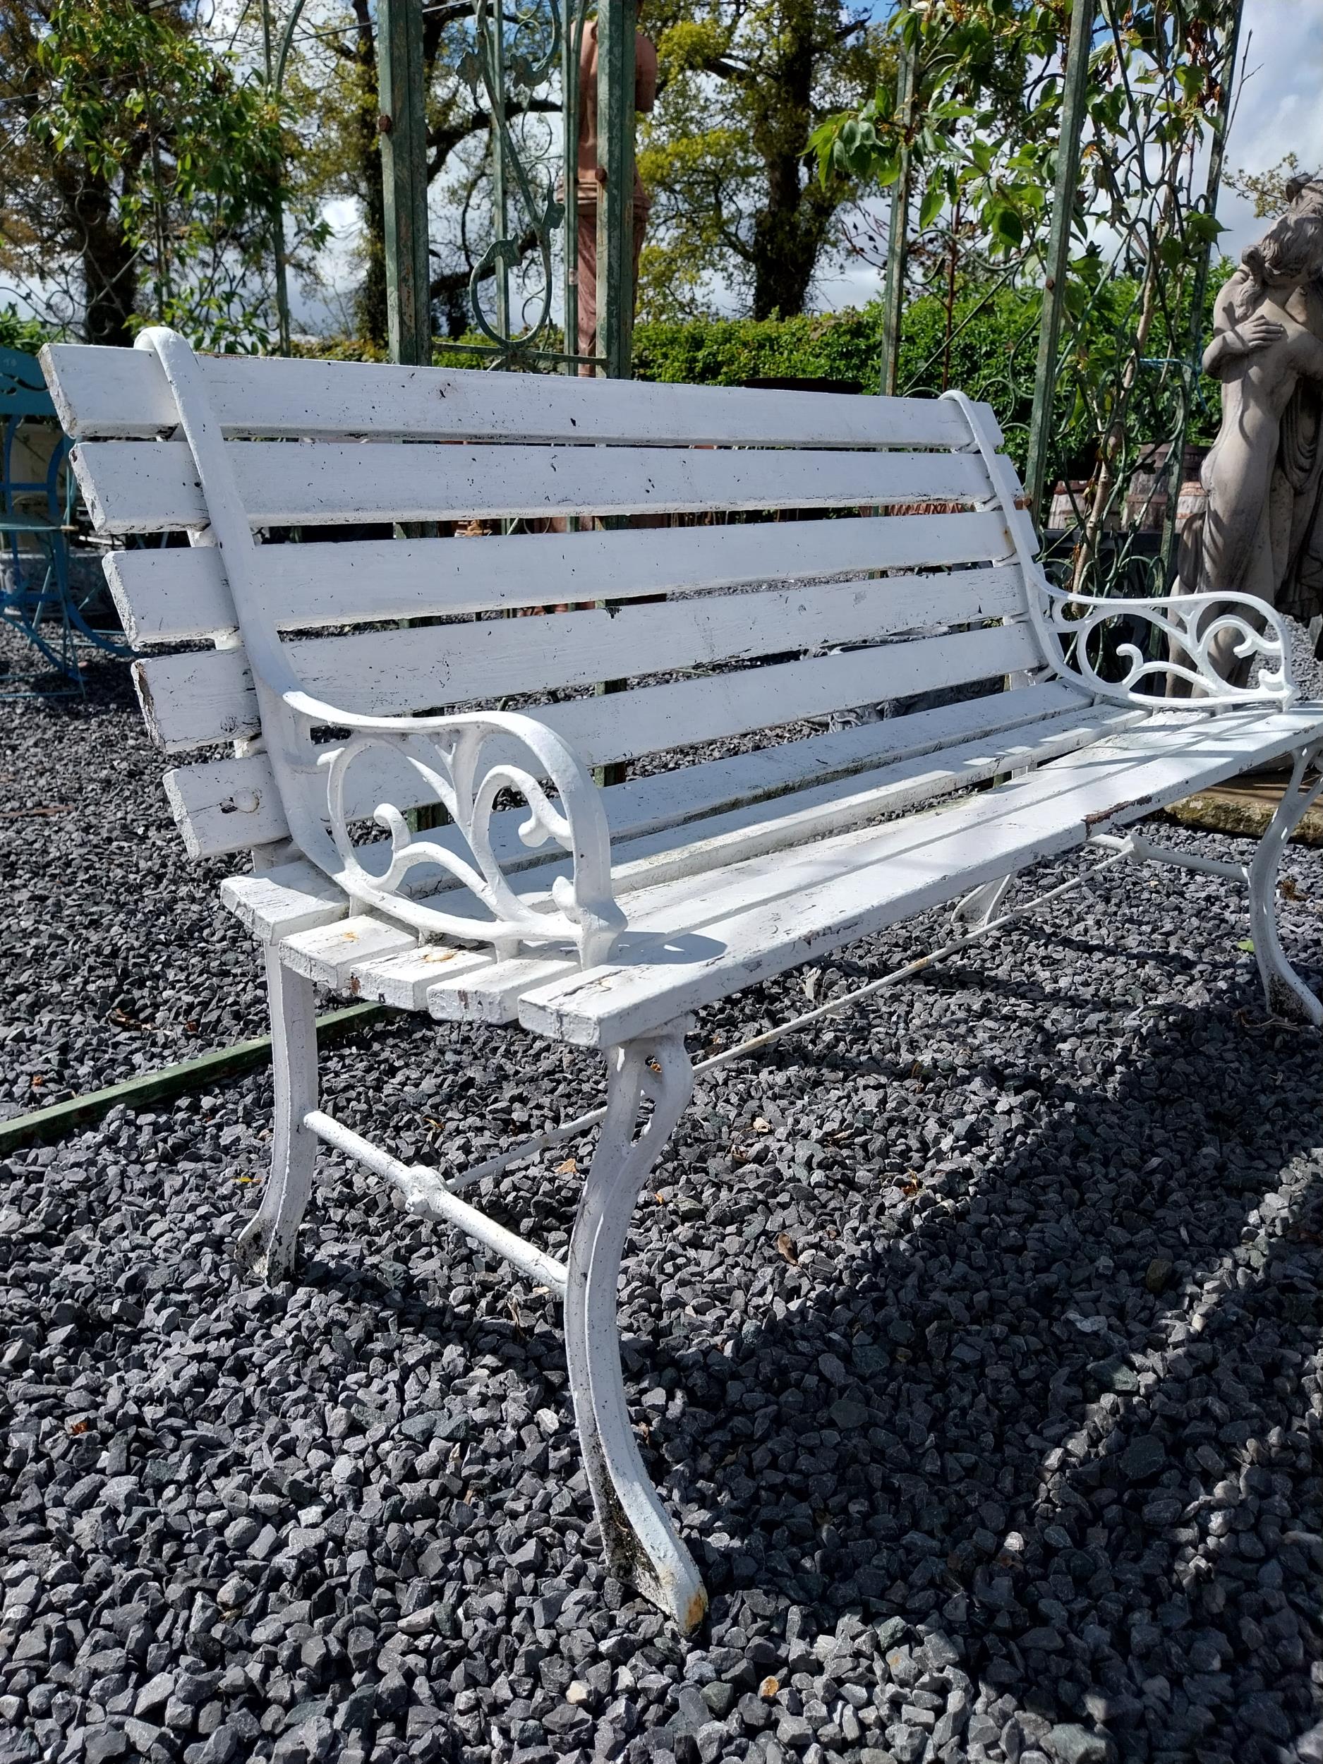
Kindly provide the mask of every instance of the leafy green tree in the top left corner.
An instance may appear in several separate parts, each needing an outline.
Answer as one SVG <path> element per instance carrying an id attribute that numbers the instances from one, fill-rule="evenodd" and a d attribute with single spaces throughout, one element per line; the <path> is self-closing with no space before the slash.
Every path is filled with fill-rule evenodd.
<path id="1" fill-rule="evenodd" d="M 0 162 L 0 268 L 64 326 L 263 340 L 280 120 L 180 0 L 11 0 Z"/>

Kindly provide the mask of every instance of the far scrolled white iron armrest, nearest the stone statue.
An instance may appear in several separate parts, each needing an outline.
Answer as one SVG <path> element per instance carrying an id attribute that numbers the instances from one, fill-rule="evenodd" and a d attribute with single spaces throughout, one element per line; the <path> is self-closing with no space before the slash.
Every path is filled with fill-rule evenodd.
<path id="1" fill-rule="evenodd" d="M 1231 704 L 1279 704 L 1286 707 L 1298 697 L 1291 679 L 1291 640 L 1281 614 L 1254 594 L 1170 594 L 1164 600 L 1127 600 L 1097 594 L 1076 594 L 1069 587 L 1053 587 L 1041 572 L 1030 586 L 1035 593 L 1039 630 L 1051 635 L 1060 654 L 1055 663 L 1065 679 L 1081 681 L 1095 697 L 1117 704 L 1136 704 L 1152 709 L 1152 693 L 1138 691 L 1143 679 L 1184 681 L 1189 699 L 1164 699 L 1164 709 L 1207 711 Z M 1217 609 L 1212 616 L 1212 609 Z M 1168 639 L 1168 653 L 1148 660 L 1136 644 L 1120 644 L 1117 656 L 1125 667 L 1122 679 L 1102 679 L 1088 653 L 1088 639 L 1110 619 L 1122 614 L 1147 619 Z M 1261 621 L 1261 628 L 1259 628 Z M 1210 649 L 1214 639 L 1231 633 L 1237 660 L 1261 656 L 1259 677 L 1252 686 L 1233 686 L 1214 669 Z M 1065 642 L 1074 639 L 1071 658 Z"/>

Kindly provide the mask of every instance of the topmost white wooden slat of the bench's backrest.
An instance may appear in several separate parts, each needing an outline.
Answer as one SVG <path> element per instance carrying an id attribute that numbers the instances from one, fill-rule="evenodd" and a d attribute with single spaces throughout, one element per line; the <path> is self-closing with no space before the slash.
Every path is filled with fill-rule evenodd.
<path id="1" fill-rule="evenodd" d="M 51 344 L 42 367 L 65 434 L 150 437 L 178 423 L 155 355 Z M 568 379 L 362 362 L 203 358 L 231 436 L 388 436 L 411 441 L 610 441 L 683 446 L 963 446 L 938 399 L 841 399 L 640 381 Z M 991 416 L 991 413 L 990 413 Z"/>

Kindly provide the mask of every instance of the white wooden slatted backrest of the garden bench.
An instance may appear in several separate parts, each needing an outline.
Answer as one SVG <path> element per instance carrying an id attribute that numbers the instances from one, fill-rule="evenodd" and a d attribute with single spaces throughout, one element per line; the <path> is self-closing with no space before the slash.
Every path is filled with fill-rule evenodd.
<path id="1" fill-rule="evenodd" d="M 252 529 L 460 515 L 737 517 L 259 547 L 250 573 L 295 672 L 346 713 L 531 695 L 534 714 L 600 764 L 940 686 L 997 684 L 1041 662 L 1023 623 L 1000 623 L 1025 610 L 1023 573 L 1005 561 L 1005 519 L 990 506 L 988 469 L 951 402 L 358 363 L 203 369 Z M 175 437 L 159 360 L 56 346 L 46 370 L 79 439 L 76 469 L 95 524 L 198 536 L 206 505 Z M 861 515 L 898 503 L 907 513 Z M 940 512 L 914 512 L 930 505 Z M 810 508 L 831 517 L 746 519 Z M 183 753 L 258 734 L 224 556 L 206 545 L 131 550 L 108 573 L 136 644 L 224 644 L 136 665 L 157 739 Z M 721 593 L 755 584 L 773 586 Z M 672 598 L 637 603 L 658 593 Z M 587 610 L 594 602 L 617 610 Z M 577 610 L 510 617 L 566 603 Z M 416 617 L 443 623 L 381 628 Z M 344 624 L 365 628 L 295 635 Z M 833 646 L 852 647 L 811 654 Z M 713 667 L 720 679 L 654 681 Z M 593 695 L 600 679 L 632 686 Z M 566 691 L 579 697 L 542 702 Z M 415 785 L 399 803 L 416 797 Z"/>

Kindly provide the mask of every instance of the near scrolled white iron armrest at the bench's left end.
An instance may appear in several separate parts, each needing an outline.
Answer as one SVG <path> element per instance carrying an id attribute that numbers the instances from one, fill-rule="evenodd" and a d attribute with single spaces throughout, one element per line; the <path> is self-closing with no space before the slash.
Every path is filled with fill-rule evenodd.
<path id="1" fill-rule="evenodd" d="M 610 834 L 602 794 L 568 743 L 533 716 L 513 711 L 460 711 L 453 716 L 358 716 L 323 704 L 305 691 L 286 691 L 284 704 L 305 723 L 348 729 L 349 739 L 321 755 L 326 771 L 330 838 L 339 868 L 335 880 L 355 900 L 425 935 L 460 937 L 492 944 L 512 956 L 520 944 L 570 944 L 582 967 L 610 956 L 624 930 L 610 880 Z M 483 766 L 490 743 L 499 751 Z M 367 870 L 349 838 L 344 785 L 349 767 L 370 748 L 390 748 L 436 792 L 462 834 L 471 859 L 425 833 L 413 833 L 392 803 L 372 818 L 390 834 L 390 864 Z M 522 750 L 512 759 L 510 748 Z M 557 801 L 547 794 L 550 780 Z M 519 829 L 524 845 L 559 845 L 572 859 L 572 875 L 550 887 L 550 907 L 519 896 L 492 850 L 492 813 L 503 790 L 527 804 Z M 420 864 L 436 864 L 467 889 L 487 917 L 445 912 L 400 893 Z"/>

